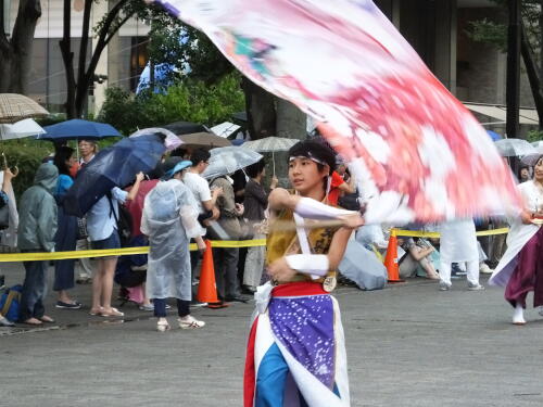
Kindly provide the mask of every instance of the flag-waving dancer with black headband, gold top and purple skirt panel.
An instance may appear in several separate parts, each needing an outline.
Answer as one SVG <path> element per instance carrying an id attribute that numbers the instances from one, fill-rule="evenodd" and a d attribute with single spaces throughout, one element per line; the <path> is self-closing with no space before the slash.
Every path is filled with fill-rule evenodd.
<path id="1" fill-rule="evenodd" d="M 349 406 L 343 328 L 329 294 L 357 212 L 326 205 L 333 152 L 315 141 L 289 151 L 290 193 L 269 195 L 267 271 L 258 287 L 245 361 L 244 406 Z M 303 228 L 304 218 L 337 219 L 337 227 Z M 280 226 L 290 225 L 288 231 Z M 274 228 L 276 230 L 274 230 Z"/>

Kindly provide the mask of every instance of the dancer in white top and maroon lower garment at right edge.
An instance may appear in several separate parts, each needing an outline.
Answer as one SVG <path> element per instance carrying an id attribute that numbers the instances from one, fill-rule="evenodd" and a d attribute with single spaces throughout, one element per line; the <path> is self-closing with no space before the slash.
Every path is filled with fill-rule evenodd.
<path id="1" fill-rule="evenodd" d="M 535 164 L 533 180 L 518 186 L 525 209 L 513 219 L 507 251 L 489 282 L 505 287 L 505 300 L 515 308 L 513 323 L 525 325 L 526 296 L 533 291 L 533 306 L 543 316 L 543 155 Z"/>

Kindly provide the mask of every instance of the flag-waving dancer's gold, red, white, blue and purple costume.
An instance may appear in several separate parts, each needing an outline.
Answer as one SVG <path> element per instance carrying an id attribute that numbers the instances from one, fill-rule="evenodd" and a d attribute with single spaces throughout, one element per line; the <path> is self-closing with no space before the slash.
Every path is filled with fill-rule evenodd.
<path id="1" fill-rule="evenodd" d="M 287 209 L 277 219 L 303 222 Z M 336 230 L 272 231 L 266 264 L 307 250 L 327 254 Z M 298 272 L 287 283 L 258 288 L 245 361 L 245 407 L 350 406 L 343 327 L 329 294 L 334 281 L 336 272 Z"/>

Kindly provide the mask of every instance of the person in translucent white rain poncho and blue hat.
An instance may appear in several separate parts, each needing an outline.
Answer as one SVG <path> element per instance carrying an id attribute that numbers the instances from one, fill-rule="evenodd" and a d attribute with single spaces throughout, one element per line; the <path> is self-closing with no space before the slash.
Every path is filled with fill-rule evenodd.
<path id="1" fill-rule="evenodd" d="M 149 237 L 147 294 L 153 300 L 156 329 L 169 329 L 166 298 L 177 298 L 179 328 L 202 328 L 205 322 L 190 315 L 191 281 L 189 240 L 205 250 L 192 192 L 182 183 L 182 173 L 192 163 L 182 161 L 146 196 L 141 231 Z"/>

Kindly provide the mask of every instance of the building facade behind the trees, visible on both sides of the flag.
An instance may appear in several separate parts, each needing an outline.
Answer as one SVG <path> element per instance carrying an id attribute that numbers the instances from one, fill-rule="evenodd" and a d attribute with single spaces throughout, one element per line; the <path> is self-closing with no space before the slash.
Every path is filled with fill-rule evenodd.
<path id="1" fill-rule="evenodd" d="M 13 24 L 18 0 L 11 0 Z M 108 11 L 109 3 L 94 3 L 92 25 Z M 465 102 L 505 103 L 506 55 L 495 48 L 468 38 L 469 22 L 483 17 L 504 20 L 500 8 L 489 0 L 376 0 L 428 67 L 454 94 Z M 66 94 L 64 66 L 59 48 L 62 38 L 63 0 L 41 0 L 42 16 L 35 35 L 30 96 L 52 112 L 63 110 Z M 72 41 L 75 60 L 80 40 L 84 0 L 72 0 Z M 9 25 L 8 25 L 9 27 Z M 103 102 L 106 87 L 134 91 L 147 63 L 149 26 L 131 20 L 103 52 L 97 74 L 106 75 L 97 84 L 89 106 L 94 113 Z M 88 50 L 89 54 L 91 49 Z M 77 67 L 76 67 L 77 68 Z M 521 78 L 521 105 L 533 106 L 526 75 Z"/>

